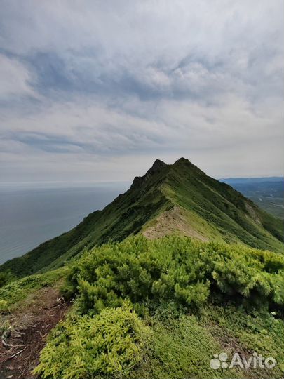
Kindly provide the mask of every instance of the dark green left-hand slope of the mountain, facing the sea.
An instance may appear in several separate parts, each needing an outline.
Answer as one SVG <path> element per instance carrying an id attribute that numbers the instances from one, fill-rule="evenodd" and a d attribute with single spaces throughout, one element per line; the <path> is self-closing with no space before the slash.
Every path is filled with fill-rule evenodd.
<path id="1" fill-rule="evenodd" d="M 60 267 L 86 248 L 111 239 L 121 241 L 130 234 L 137 234 L 147 220 L 154 218 L 168 206 L 168 199 L 163 196 L 158 186 L 164 175 L 162 170 L 150 178 L 142 196 L 140 187 L 130 188 L 102 211 L 90 213 L 70 232 L 39 245 L 20 258 L 4 263 L 0 266 L 0 272 L 11 270 L 19 277 L 45 272 Z"/>

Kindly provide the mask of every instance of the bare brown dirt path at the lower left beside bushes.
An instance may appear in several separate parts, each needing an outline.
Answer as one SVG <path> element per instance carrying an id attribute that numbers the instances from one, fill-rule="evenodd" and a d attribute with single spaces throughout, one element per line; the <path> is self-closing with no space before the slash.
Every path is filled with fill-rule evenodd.
<path id="1" fill-rule="evenodd" d="M 0 379 L 34 378 L 30 372 L 39 361 L 46 336 L 67 309 L 58 289 L 47 287 L 7 317 L 11 329 L 6 329 L 0 342 Z"/>

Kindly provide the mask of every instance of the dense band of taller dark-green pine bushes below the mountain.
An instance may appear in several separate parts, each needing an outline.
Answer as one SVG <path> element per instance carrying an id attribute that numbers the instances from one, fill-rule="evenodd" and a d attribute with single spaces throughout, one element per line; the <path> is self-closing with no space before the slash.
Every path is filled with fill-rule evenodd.
<path id="1" fill-rule="evenodd" d="M 135 237 L 85 253 L 70 268 L 68 285 L 90 314 L 124 299 L 141 310 L 164 300 L 198 307 L 210 296 L 283 310 L 284 257 L 187 237 Z"/>

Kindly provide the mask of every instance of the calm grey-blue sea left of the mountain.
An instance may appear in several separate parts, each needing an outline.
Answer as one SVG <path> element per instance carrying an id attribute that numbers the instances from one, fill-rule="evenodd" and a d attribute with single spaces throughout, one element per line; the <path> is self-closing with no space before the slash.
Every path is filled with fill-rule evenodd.
<path id="1" fill-rule="evenodd" d="M 67 232 L 128 187 L 0 187 L 0 264 Z"/>

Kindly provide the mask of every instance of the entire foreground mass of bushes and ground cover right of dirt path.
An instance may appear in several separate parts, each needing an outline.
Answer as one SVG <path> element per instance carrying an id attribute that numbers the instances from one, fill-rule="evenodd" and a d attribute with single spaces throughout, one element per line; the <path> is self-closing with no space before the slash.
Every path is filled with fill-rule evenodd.
<path id="1" fill-rule="evenodd" d="M 280 378 L 283 270 L 283 255 L 186 237 L 93 248 L 69 265 L 63 291 L 76 296 L 74 309 L 34 372 L 44 379 L 226 378 L 209 361 L 237 350 L 276 357 L 278 366 L 231 369 L 231 378 Z"/>

